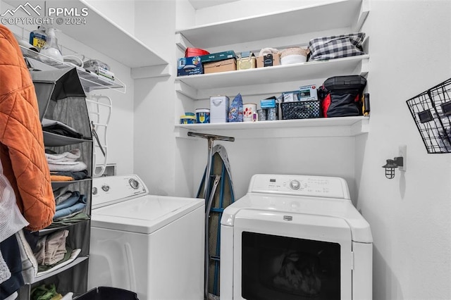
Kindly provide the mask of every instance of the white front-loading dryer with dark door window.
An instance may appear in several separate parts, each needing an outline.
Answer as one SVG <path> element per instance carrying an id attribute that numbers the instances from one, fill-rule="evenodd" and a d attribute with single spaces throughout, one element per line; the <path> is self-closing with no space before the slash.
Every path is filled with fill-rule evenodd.
<path id="1" fill-rule="evenodd" d="M 252 176 L 221 218 L 221 299 L 371 299 L 373 238 L 340 177 Z"/>

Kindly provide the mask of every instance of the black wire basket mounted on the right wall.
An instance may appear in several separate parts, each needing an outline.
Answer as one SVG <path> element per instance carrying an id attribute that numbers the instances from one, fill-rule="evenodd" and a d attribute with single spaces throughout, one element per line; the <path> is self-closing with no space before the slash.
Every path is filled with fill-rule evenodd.
<path id="1" fill-rule="evenodd" d="M 451 153 L 451 78 L 407 100 L 429 154 Z"/>

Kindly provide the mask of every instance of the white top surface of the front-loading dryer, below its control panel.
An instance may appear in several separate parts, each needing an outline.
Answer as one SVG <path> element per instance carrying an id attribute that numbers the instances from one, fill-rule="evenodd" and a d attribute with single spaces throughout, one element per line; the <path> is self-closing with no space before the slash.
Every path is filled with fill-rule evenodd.
<path id="1" fill-rule="evenodd" d="M 373 242 L 369 223 L 347 199 L 247 193 L 224 210 L 221 225 L 233 226 L 235 215 L 242 209 L 280 213 L 280 218 L 284 213 L 341 218 L 349 225 L 354 242 Z"/>

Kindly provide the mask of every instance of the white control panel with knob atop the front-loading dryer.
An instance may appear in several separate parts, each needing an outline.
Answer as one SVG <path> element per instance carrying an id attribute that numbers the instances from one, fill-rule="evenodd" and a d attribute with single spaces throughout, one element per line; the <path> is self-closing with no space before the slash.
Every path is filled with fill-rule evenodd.
<path id="1" fill-rule="evenodd" d="M 341 177 L 256 174 L 247 192 L 350 199 L 347 183 Z"/>

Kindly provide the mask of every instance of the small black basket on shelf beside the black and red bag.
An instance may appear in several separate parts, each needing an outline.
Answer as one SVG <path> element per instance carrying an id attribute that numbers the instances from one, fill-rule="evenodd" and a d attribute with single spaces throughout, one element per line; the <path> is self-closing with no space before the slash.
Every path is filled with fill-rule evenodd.
<path id="1" fill-rule="evenodd" d="M 319 100 L 283 102 L 280 104 L 282 120 L 319 118 Z"/>

